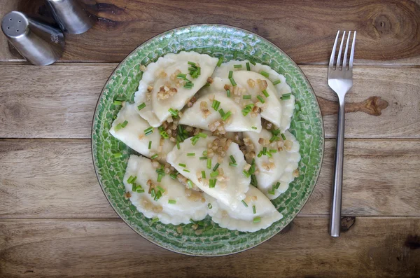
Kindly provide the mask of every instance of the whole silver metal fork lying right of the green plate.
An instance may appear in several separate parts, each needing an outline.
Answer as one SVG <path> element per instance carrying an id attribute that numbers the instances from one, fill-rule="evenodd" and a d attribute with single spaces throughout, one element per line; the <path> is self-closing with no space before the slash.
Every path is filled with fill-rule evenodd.
<path id="1" fill-rule="evenodd" d="M 337 93 L 339 100 L 338 123 L 337 123 L 337 148 L 335 150 L 335 173 L 334 188 L 332 188 L 331 217 L 330 217 L 330 235 L 339 237 L 339 228 L 341 223 L 342 208 L 342 181 L 343 181 L 343 156 L 344 156 L 344 97 L 353 85 L 353 57 L 354 43 L 356 42 L 356 31 L 353 34 L 353 43 L 351 43 L 351 52 L 349 62 L 347 63 L 347 50 L 349 50 L 349 41 L 351 31 L 347 36 L 346 49 L 342 57 L 342 48 L 346 32 L 343 32 L 342 41 L 339 45 L 337 62 L 335 62 L 335 50 L 339 31 L 335 37 L 334 47 L 328 65 L 328 85 Z"/>

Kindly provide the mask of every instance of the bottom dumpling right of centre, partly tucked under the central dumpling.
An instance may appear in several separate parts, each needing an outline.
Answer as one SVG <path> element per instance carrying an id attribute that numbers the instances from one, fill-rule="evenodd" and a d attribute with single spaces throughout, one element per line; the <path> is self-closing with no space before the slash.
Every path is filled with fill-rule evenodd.
<path id="1" fill-rule="evenodd" d="M 266 229 L 283 218 L 272 202 L 253 186 L 250 186 L 243 202 L 238 201 L 235 208 L 226 206 L 222 202 L 213 202 L 211 206 L 209 215 L 214 223 L 218 223 L 221 228 L 240 232 Z"/>

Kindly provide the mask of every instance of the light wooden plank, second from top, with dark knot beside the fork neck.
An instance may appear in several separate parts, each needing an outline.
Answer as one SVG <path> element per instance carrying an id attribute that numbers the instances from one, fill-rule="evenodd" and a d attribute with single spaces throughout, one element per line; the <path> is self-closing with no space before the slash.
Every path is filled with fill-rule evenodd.
<path id="1" fill-rule="evenodd" d="M 115 67 L 3 65 L 0 138 L 90 138 L 97 98 Z M 321 104 L 325 137 L 333 138 L 338 106 L 326 83 L 327 69 L 302 69 Z M 346 97 L 346 137 L 420 137 L 419 91 L 420 69 L 357 67 Z"/>

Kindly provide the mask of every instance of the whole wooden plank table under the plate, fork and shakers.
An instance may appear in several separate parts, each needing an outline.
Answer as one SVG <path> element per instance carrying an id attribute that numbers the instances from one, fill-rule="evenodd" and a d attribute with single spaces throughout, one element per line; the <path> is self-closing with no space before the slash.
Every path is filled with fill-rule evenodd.
<path id="1" fill-rule="evenodd" d="M 0 36 L 0 277 L 420 276 L 419 0 L 98 3 L 97 24 L 66 34 L 52 66 L 24 62 Z M 48 13 L 42 1 L 0 0 L 0 15 L 13 9 Z M 90 154 L 94 106 L 118 62 L 146 39 L 194 23 L 274 42 L 307 74 L 323 113 L 325 158 L 309 202 L 279 235 L 233 256 L 183 256 L 137 235 L 106 201 Z M 337 29 L 357 29 L 358 38 L 346 217 L 332 238 L 337 98 L 326 64 Z"/>

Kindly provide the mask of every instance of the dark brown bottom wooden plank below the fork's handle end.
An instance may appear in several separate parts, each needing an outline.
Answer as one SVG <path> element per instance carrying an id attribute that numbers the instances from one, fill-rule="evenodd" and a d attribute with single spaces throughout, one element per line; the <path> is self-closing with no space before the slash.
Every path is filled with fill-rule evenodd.
<path id="1" fill-rule="evenodd" d="M 328 218 L 296 218 L 260 246 L 214 258 L 162 249 L 118 219 L 1 220 L 0 274 L 165 278 L 420 274 L 420 218 L 355 220 L 341 237 L 332 238 Z"/>

